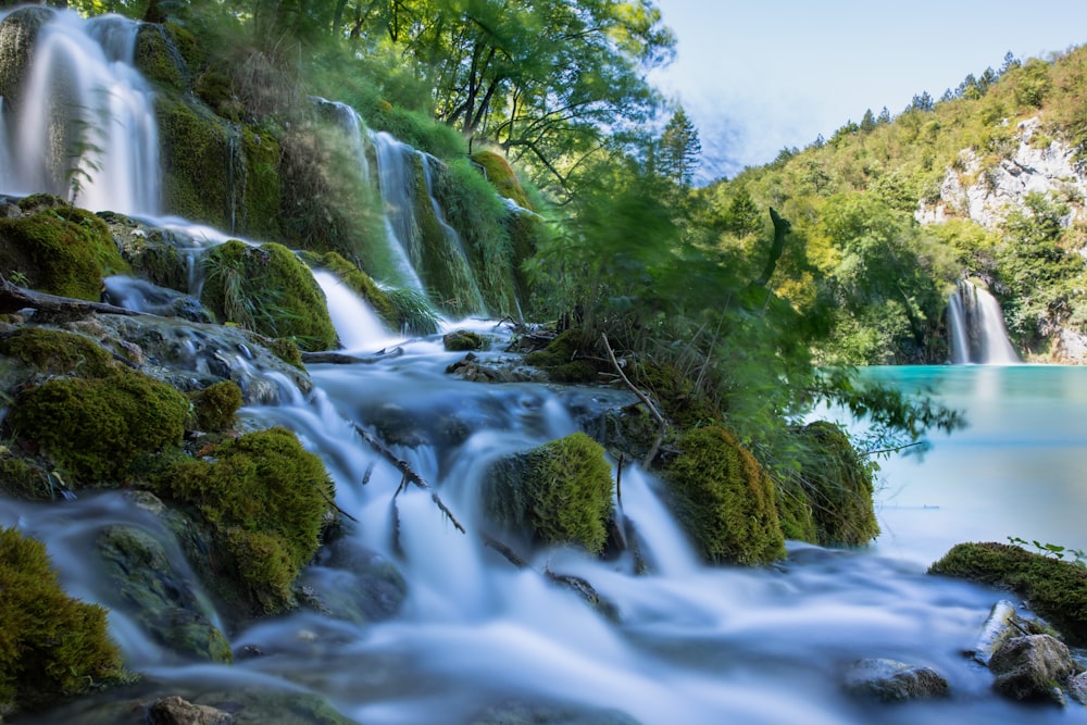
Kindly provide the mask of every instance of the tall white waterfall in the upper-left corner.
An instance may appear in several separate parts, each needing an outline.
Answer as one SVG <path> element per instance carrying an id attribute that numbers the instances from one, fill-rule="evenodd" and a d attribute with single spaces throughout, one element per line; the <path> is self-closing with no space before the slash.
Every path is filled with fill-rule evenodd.
<path id="1" fill-rule="evenodd" d="M 57 12 L 12 105 L 2 190 L 49 191 L 80 207 L 155 214 L 159 134 L 150 86 L 133 65 L 138 24 Z M 17 153 L 15 153 L 17 151 Z"/>

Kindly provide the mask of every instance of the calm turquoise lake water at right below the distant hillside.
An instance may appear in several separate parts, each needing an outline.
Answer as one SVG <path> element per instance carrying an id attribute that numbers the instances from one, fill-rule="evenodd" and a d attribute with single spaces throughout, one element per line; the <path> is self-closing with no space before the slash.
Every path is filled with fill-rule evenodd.
<path id="1" fill-rule="evenodd" d="M 873 367 L 928 389 L 967 427 L 923 455 L 883 463 L 876 550 L 932 561 L 959 541 L 1009 536 L 1087 549 L 1087 368 L 1059 365 Z"/>

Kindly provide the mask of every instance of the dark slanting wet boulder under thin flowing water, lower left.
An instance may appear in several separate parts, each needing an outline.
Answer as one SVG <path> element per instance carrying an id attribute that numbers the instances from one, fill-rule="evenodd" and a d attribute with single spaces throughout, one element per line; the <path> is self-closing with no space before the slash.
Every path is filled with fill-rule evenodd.
<path id="1" fill-rule="evenodd" d="M 230 643 L 212 624 L 214 612 L 201 602 L 162 543 L 135 526 L 109 526 L 96 547 L 115 611 L 134 616 L 160 645 L 184 659 L 232 662 Z"/>

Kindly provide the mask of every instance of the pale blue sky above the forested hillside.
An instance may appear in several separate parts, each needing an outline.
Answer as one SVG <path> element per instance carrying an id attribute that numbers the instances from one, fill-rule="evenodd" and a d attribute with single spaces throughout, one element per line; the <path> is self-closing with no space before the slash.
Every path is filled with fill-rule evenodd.
<path id="1" fill-rule="evenodd" d="M 1087 43 L 1087 0 L 655 0 L 676 59 L 650 79 L 702 145 L 699 183 L 804 148 L 864 111 L 897 115 L 1009 51 Z"/>

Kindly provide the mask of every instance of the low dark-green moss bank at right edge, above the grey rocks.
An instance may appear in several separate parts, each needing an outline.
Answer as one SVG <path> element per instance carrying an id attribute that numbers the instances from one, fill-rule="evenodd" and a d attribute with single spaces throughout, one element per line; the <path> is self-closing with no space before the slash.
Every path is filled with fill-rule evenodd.
<path id="1" fill-rule="evenodd" d="M 928 568 L 1014 590 L 1069 643 L 1087 646 L 1087 568 L 1007 543 L 959 543 Z"/>

